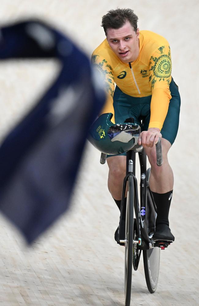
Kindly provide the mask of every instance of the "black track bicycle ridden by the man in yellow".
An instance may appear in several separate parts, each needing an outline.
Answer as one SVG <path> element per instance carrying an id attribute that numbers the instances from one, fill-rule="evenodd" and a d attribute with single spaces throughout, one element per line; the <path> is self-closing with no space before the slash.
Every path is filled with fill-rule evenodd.
<path id="1" fill-rule="evenodd" d="M 126 119 L 125 122 L 132 122 L 133 118 Z M 133 125 L 133 122 L 131 123 Z M 113 133 L 117 133 L 115 127 Z M 133 130 L 131 130 L 133 133 Z M 110 133 L 110 129 L 109 129 Z M 143 251 L 145 279 L 148 290 L 154 293 L 158 284 L 160 267 L 160 248 L 166 248 L 171 241 L 153 241 L 152 235 L 155 232 L 155 222 L 157 216 L 156 204 L 152 192 L 149 188 L 150 168 L 146 170 L 146 154 L 142 146 L 137 144 L 139 135 L 134 135 L 135 145 L 126 152 L 126 177 L 123 182 L 121 214 L 118 230 L 118 244 L 125 246 L 125 305 L 130 305 L 132 267 L 136 271 L 138 268 L 141 251 Z M 138 200 L 137 179 L 135 176 L 136 153 L 140 162 L 140 205 Z M 157 165 L 162 165 L 161 140 L 156 144 Z M 101 154 L 100 163 L 105 163 L 106 154 Z M 124 211 L 124 198 L 126 188 L 126 230 L 125 239 L 121 239 L 121 222 Z M 134 218 L 135 213 L 135 218 Z"/>

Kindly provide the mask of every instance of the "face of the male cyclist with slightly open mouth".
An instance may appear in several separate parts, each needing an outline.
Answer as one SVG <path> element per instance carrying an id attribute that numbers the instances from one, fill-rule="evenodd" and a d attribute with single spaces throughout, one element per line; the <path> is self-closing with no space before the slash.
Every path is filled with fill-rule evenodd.
<path id="1" fill-rule="evenodd" d="M 107 41 L 124 63 L 133 62 L 139 55 L 139 29 L 135 32 L 129 21 L 118 29 L 107 29 Z"/>

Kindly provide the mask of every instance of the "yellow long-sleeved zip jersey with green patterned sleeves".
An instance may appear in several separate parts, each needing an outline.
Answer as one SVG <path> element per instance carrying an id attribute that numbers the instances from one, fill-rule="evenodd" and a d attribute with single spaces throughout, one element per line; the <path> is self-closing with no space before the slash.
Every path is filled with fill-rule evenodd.
<path id="1" fill-rule="evenodd" d="M 94 50 L 92 62 L 103 76 L 108 93 L 102 114 L 114 115 L 113 94 L 117 84 L 122 92 L 132 97 L 152 95 L 149 128 L 161 130 L 171 99 L 170 46 L 164 37 L 151 31 L 140 31 L 139 48 L 138 58 L 130 65 L 118 58 L 107 39 Z"/>

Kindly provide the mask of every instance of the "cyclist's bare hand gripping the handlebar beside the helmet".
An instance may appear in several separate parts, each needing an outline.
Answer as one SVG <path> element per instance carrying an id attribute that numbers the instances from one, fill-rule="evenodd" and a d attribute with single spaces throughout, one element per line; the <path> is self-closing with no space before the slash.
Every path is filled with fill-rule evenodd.
<path id="1" fill-rule="evenodd" d="M 162 138 L 160 129 L 158 128 L 149 128 L 148 131 L 142 131 L 138 139 L 138 144 L 143 147 L 152 148 L 154 144 L 158 142 L 158 139 Z"/>

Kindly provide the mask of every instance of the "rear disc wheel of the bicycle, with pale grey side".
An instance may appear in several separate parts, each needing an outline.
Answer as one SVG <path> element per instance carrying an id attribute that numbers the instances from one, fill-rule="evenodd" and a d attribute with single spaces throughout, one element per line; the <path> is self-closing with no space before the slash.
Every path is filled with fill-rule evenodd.
<path id="1" fill-rule="evenodd" d="M 149 180 L 150 169 L 147 170 L 147 181 Z M 149 200 L 149 191 L 147 191 L 147 203 Z M 146 210 L 146 219 L 149 217 Z M 147 220 L 148 223 L 148 220 Z M 143 250 L 145 279 L 148 291 L 154 293 L 158 285 L 159 268 L 160 268 L 160 248 L 150 248 Z"/>

